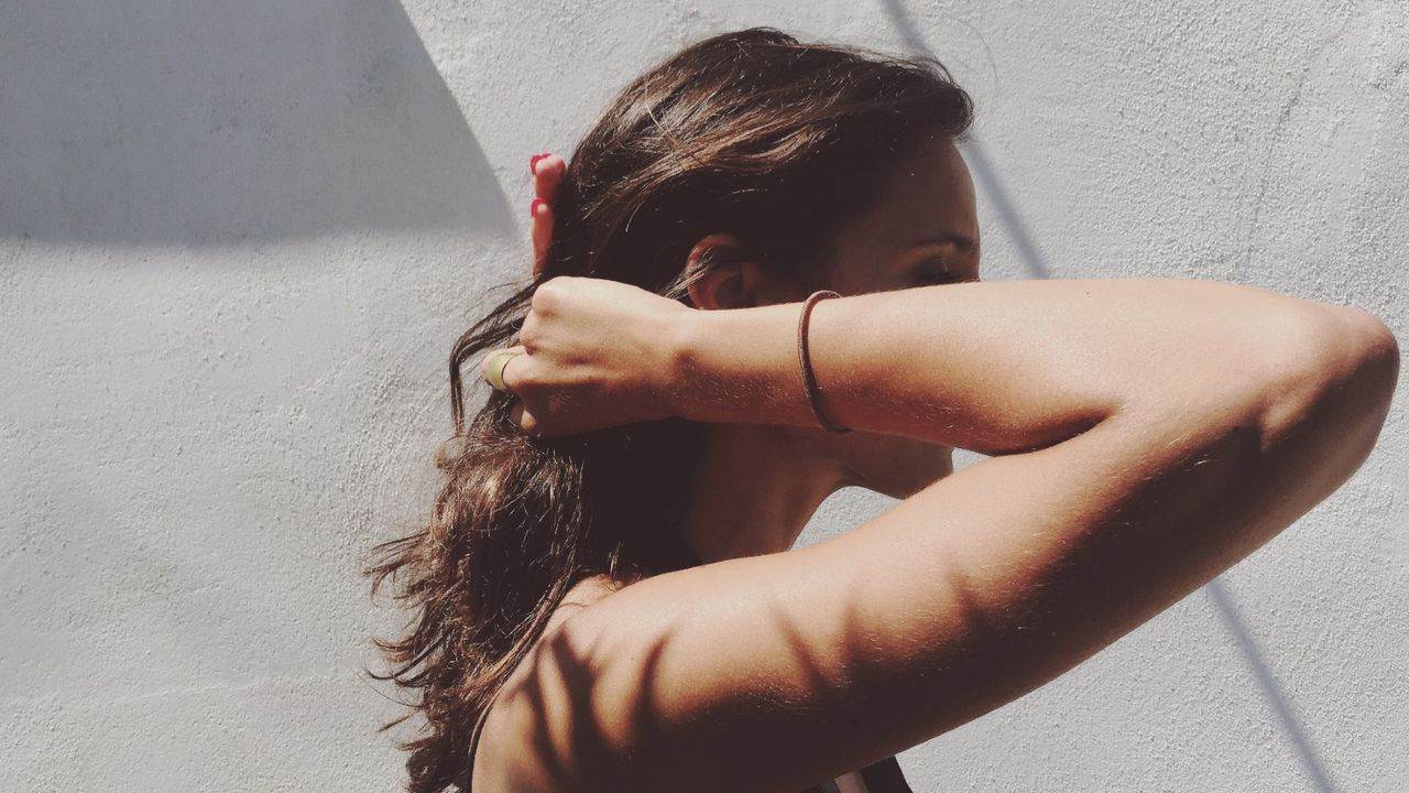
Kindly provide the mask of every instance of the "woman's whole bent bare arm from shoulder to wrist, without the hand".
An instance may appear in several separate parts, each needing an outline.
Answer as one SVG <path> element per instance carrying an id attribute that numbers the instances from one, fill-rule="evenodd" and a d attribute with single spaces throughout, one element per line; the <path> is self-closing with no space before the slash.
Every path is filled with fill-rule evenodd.
<path id="1" fill-rule="evenodd" d="M 816 426 L 799 308 L 692 316 L 679 413 Z M 812 357 L 834 420 L 1003 454 L 576 612 L 492 717 L 533 746 L 504 789 L 800 790 L 988 713 L 1348 478 L 1399 361 L 1363 312 L 1158 278 L 823 301 Z"/>

